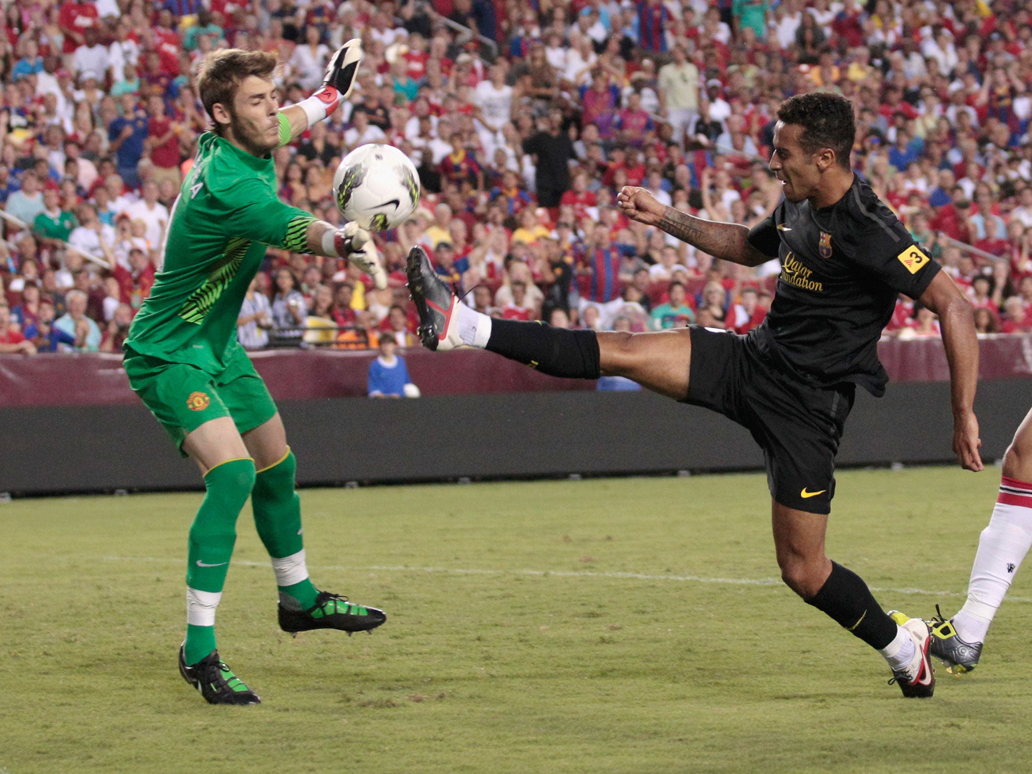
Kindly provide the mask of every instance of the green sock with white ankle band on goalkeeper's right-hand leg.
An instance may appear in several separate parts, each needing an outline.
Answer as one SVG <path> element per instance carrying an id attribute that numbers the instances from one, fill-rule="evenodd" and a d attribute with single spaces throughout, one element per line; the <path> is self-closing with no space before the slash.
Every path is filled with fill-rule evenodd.
<path id="1" fill-rule="evenodd" d="M 297 459 L 287 450 L 279 462 L 255 476 L 251 506 L 258 537 L 272 558 L 281 601 L 307 610 L 316 604 L 319 590 L 309 579 L 301 538 L 301 499 L 294 490 Z M 286 595 L 289 599 L 284 600 Z"/>

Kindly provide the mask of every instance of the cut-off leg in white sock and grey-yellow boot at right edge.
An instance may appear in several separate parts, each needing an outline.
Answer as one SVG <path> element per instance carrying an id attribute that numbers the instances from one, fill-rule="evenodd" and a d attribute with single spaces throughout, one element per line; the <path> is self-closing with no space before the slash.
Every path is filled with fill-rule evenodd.
<path id="1" fill-rule="evenodd" d="M 977 666 L 981 646 L 1029 548 L 1032 547 L 1032 411 L 1003 456 L 1000 492 L 989 525 L 978 538 L 964 607 L 950 620 L 937 620 L 932 653 L 950 672 Z"/>

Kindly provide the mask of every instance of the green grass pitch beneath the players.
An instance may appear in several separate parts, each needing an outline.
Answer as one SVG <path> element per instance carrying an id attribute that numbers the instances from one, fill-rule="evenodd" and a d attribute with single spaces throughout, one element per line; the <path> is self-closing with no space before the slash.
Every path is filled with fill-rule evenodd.
<path id="1" fill-rule="evenodd" d="M 952 614 L 998 474 L 843 473 L 829 554 L 886 608 Z M 199 494 L 0 505 L 0 772 L 1032 769 L 1027 578 L 973 675 L 903 700 L 775 580 L 762 476 L 301 499 L 316 583 L 389 618 L 280 632 L 245 511 L 219 644 L 250 708 L 209 707 L 175 668 Z"/>

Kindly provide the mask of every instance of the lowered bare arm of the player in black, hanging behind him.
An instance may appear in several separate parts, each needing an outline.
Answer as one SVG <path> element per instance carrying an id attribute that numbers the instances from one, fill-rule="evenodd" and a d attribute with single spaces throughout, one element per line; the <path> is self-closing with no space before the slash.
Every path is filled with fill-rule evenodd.
<path id="1" fill-rule="evenodd" d="M 949 361 L 950 402 L 954 410 L 954 453 L 961 466 L 981 471 L 978 419 L 974 415 L 974 391 L 978 384 L 978 340 L 974 310 L 945 271 L 939 271 L 918 299 L 939 316 L 942 344 Z"/>

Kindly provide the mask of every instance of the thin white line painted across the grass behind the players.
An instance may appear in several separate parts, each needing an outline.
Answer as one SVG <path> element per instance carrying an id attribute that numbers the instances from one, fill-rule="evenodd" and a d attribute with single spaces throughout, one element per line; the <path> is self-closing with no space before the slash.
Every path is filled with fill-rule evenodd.
<path id="1" fill-rule="evenodd" d="M 158 561 L 181 563 L 182 559 L 164 559 L 155 556 L 103 556 L 107 561 Z M 234 565 L 246 567 L 267 567 L 267 561 L 245 561 L 233 559 Z M 314 570 L 344 570 L 350 572 L 381 572 L 381 573 L 442 573 L 445 575 L 519 575 L 524 577 L 545 578 L 626 578 L 630 580 L 664 580 L 680 581 L 682 583 L 716 583 L 727 586 L 780 586 L 778 578 L 705 578 L 700 575 L 647 575 L 645 573 L 592 573 L 590 571 L 568 570 L 470 570 L 447 567 L 390 567 L 372 565 L 367 567 L 348 567 L 346 565 L 313 565 Z M 930 591 L 927 588 L 893 588 L 891 586 L 870 586 L 872 591 L 879 593 L 920 594 L 924 596 L 967 596 L 961 591 Z M 1032 603 L 1029 596 L 1008 596 L 1007 602 Z"/>

